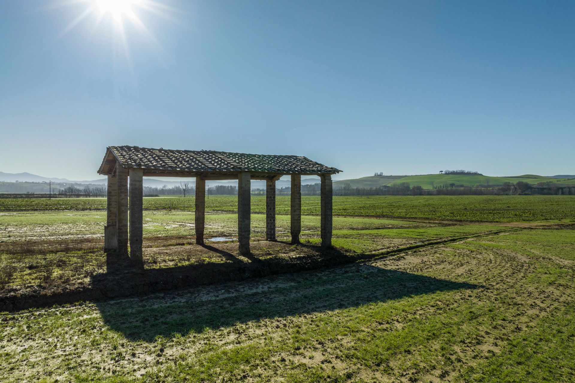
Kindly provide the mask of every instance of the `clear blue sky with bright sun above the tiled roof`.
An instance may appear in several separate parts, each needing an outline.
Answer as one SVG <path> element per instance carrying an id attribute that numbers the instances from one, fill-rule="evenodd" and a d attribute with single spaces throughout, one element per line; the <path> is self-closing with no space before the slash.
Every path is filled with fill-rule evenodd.
<path id="1" fill-rule="evenodd" d="M 127 144 L 575 174 L 573 1 L 135 2 L 0 0 L 0 171 Z"/>

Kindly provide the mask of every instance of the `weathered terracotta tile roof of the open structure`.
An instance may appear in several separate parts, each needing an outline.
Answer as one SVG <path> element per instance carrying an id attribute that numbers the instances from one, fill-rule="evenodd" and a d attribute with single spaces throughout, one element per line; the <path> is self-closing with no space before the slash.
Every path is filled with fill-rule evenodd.
<path id="1" fill-rule="evenodd" d="M 110 153 L 125 168 L 150 170 L 209 173 L 251 171 L 280 174 L 335 174 L 341 171 L 303 156 L 246 154 L 213 150 L 168 150 L 124 145 L 108 148 L 98 173 L 111 173 L 113 166 L 106 164 L 106 159 L 109 159 Z"/>

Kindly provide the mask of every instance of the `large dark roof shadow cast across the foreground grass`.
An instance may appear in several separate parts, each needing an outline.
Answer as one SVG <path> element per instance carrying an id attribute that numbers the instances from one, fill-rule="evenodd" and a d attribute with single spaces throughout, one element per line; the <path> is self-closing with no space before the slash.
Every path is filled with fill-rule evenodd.
<path id="1" fill-rule="evenodd" d="M 97 304 L 105 323 L 127 339 L 154 342 L 157 336 L 202 332 L 264 318 L 358 307 L 420 294 L 479 286 L 381 269 L 348 265 L 246 284 L 225 284 Z"/>

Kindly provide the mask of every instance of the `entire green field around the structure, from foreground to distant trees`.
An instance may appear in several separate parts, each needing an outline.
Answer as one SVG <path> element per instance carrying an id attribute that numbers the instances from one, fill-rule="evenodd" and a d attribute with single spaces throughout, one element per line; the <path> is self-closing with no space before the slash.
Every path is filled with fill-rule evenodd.
<path id="1" fill-rule="evenodd" d="M 48 202 L 0 214 L 0 300 L 105 272 L 94 207 L 105 200 Z M 193 198 L 144 203 L 147 270 L 316 256 L 319 217 L 302 217 L 292 245 L 279 215 L 279 242 L 264 242 L 259 197 L 249 257 L 237 253 L 235 198 L 210 196 L 221 213 L 206 216 L 206 237 L 227 240 L 208 247 L 193 241 Z M 0 381 L 573 382 L 573 210 L 569 196 L 335 198 L 347 265 L 0 313 Z"/>

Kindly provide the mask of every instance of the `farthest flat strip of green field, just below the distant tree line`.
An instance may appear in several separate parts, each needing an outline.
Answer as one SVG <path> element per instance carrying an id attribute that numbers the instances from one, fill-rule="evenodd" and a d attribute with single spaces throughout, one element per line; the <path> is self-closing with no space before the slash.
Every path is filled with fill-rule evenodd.
<path id="1" fill-rule="evenodd" d="M 277 213 L 289 214 L 289 196 L 276 198 Z M 265 196 L 251 197 L 252 213 L 264 213 Z M 0 199 L 0 212 L 105 210 L 105 198 Z M 194 197 L 144 198 L 145 210 L 194 210 Z M 210 196 L 206 210 L 236 212 L 237 197 Z M 303 196 L 302 214 L 319 215 L 320 197 Z M 367 196 L 333 197 L 333 214 L 394 219 L 523 222 L 575 219 L 572 196 Z"/>

